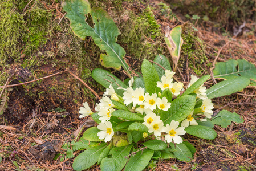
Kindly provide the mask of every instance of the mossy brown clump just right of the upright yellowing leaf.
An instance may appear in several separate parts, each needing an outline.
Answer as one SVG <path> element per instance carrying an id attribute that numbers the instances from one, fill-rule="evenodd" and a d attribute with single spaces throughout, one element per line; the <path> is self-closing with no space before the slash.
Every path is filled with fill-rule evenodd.
<path id="1" fill-rule="evenodd" d="M 181 47 L 181 55 L 188 56 L 189 67 L 193 68 L 197 75 L 201 75 L 203 70 L 202 64 L 206 62 L 205 46 L 200 38 L 196 36 L 191 23 L 187 23 L 182 27 L 182 39 L 184 44 Z M 180 65 L 183 67 L 186 58 L 180 59 Z"/>

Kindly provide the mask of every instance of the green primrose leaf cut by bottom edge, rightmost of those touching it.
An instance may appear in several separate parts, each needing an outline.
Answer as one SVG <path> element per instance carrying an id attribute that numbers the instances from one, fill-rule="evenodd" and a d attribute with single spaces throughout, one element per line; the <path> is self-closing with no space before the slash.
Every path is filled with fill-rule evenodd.
<path id="1" fill-rule="evenodd" d="M 145 167 L 148 165 L 151 157 L 153 156 L 154 151 L 151 149 L 145 149 L 142 152 L 139 151 L 135 155 L 132 155 L 125 166 L 124 171 L 140 171 L 144 170 Z"/>

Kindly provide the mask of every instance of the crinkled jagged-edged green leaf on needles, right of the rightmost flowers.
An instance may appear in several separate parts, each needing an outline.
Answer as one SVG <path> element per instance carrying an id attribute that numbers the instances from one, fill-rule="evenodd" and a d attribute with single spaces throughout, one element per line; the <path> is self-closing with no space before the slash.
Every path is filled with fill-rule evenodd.
<path id="1" fill-rule="evenodd" d="M 211 122 L 214 125 L 221 125 L 222 128 L 227 128 L 231 124 L 231 121 L 234 121 L 235 123 L 243 123 L 242 116 L 238 115 L 237 113 L 231 113 L 226 110 L 222 110 L 212 118 Z"/>

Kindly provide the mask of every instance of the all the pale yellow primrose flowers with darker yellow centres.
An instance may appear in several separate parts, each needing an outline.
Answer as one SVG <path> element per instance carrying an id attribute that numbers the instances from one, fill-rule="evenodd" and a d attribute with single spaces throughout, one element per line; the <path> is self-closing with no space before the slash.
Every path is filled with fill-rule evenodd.
<path id="1" fill-rule="evenodd" d="M 179 96 L 183 89 L 183 83 L 173 83 L 174 74 L 175 72 L 166 70 L 165 75 L 161 77 L 161 82 L 157 82 L 157 87 L 161 88 L 161 91 L 165 91 L 167 89 L 167 91 L 169 90 L 172 95 Z M 188 87 L 192 86 L 192 84 L 198 80 L 194 75 L 191 77 L 192 79 Z M 206 87 L 201 85 L 193 92 L 197 94 L 197 101 L 201 100 L 201 107 L 194 109 L 190 115 L 181 122 L 181 124 L 175 120 L 164 124 L 159 115 L 160 112 L 168 111 L 168 109 L 171 108 L 170 101 L 172 101 L 172 99 L 161 97 L 161 93 L 152 93 L 150 95 L 148 92 L 145 92 L 145 88 L 132 88 L 132 84 L 133 78 L 130 80 L 128 88 L 119 88 L 124 89 L 123 97 L 117 95 L 112 84 L 110 84 L 109 88 L 106 89 L 102 99 L 100 100 L 100 103 L 96 104 L 95 111 L 98 112 L 97 115 L 100 116 L 99 120 L 101 121 L 97 126 L 97 128 L 100 129 L 97 133 L 99 139 L 104 139 L 105 142 L 111 141 L 112 136 L 115 133 L 111 124 L 112 112 L 116 110 L 116 106 L 112 103 L 113 100 L 124 105 L 131 112 L 140 113 L 144 116 L 144 122 L 142 124 L 148 127 L 148 132 L 143 133 L 144 138 L 147 138 L 148 135 L 154 135 L 159 139 L 160 136 L 162 136 L 162 140 L 164 137 L 167 143 L 172 141 L 177 144 L 182 143 L 183 140 L 180 136 L 186 133 L 185 127 L 188 127 L 189 125 L 198 125 L 194 118 L 197 113 L 204 113 L 207 118 L 210 118 L 213 114 L 213 104 L 211 103 L 211 100 L 206 97 Z M 84 107 L 80 108 L 79 113 L 81 115 L 79 117 L 91 115 L 92 112 L 90 107 L 88 107 L 88 104 L 84 103 L 83 105 Z"/>

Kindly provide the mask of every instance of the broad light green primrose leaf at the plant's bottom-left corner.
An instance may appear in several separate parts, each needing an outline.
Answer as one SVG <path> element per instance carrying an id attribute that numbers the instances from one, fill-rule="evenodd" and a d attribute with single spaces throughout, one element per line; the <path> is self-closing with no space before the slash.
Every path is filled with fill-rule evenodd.
<path id="1" fill-rule="evenodd" d="M 90 168 L 97 162 L 101 152 L 103 152 L 106 147 L 107 145 L 104 143 L 96 146 L 95 148 L 85 150 L 75 158 L 73 162 L 73 169 L 80 171 Z"/>

